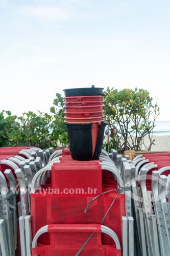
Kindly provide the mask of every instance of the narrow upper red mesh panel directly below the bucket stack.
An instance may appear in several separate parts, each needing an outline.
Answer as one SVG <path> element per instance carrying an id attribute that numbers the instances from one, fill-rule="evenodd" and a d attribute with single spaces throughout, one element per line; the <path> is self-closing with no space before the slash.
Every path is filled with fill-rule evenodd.
<path id="1" fill-rule="evenodd" d="M 51 173 L 52 188 L 58 188 L 61 191 L 65 188 L 80 188 L 79 191 L 84 191 L 83 193 L 88 193 L 88 188 L 91 188 L 102 193 L 102 170 L 99 164 L 57 163 L 53 164 Z"/>

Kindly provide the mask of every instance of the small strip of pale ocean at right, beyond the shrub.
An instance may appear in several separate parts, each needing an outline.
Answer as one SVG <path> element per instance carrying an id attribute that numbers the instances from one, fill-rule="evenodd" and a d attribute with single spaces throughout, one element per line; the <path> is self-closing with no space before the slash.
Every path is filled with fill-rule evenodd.
<path id="1" fill-rule="evenodd" d="M 169 135 L 170 136 L 170 121 L 155 121 L 154 135 Z"/>

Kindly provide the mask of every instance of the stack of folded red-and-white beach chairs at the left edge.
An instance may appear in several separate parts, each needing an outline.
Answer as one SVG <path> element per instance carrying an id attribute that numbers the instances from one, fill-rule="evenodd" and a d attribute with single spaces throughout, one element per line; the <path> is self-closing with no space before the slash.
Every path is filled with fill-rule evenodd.
<path id="1" fill-rule="evenodd" d="M 28 189 L 53 152 L 53 148 L 0 148 L 0 255 L 21 255 L 20 234 L 25 228 L 19 234 L 19 222 L 30 214 Z"/>

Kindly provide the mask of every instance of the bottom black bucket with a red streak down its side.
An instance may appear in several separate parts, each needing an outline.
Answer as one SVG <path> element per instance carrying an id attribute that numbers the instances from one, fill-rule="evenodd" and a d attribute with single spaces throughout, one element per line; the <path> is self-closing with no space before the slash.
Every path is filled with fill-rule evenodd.
<path id="1" fill-rule="evenodd" d="M 101 122 L 98 139 L 93 153 L 92 123 L 66 123 L 68 132 L 68 146 L 72 159 L 88 161 L 99 159 L 102 151 L 103 136 L 107 122 Z"/>

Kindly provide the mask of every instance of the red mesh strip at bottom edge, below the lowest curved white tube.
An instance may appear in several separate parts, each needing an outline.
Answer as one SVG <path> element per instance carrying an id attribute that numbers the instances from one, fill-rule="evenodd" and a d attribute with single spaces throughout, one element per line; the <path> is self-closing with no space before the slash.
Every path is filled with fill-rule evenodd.
<path id="1" fill-rule="evenodd" d="M 80 247 L 74 246 L 41 246 L 32 249 L 32 256 L 75 256 Z M 86 245 L 80 256 L 121 256 L 121 250 L 107 245 L 98 245 L 98 247 Z"/>

